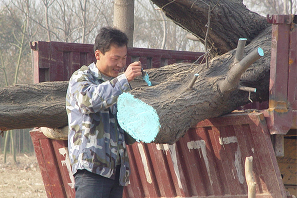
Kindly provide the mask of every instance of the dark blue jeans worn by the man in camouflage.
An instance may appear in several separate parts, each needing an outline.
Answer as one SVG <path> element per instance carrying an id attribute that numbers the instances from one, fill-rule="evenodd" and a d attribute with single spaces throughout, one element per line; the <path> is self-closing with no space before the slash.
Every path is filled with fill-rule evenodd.
<path id="1" fill-rule="evenodd" d="M 120 186 L 120 166 L 117 166 L 115 180 L 89 172 L 77 170 L 74 174 L 76 198 L 122 197 L 124 186 Z"/>

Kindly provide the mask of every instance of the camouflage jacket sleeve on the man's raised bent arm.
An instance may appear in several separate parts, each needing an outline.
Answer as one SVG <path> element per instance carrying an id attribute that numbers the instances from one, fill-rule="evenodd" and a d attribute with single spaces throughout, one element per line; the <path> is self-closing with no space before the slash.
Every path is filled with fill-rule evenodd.
<path id="1" fill-rule="evenodd" d="M 68 89 L 70 98 L 75 100 L 75 107 L 83 114 L 91 114 L 115 104 L 120 94 L 130 90 L 130 85 L 125 74 L 100 84 L 95 84 L 88 76 L 81 75 L 78 78 L 72 76 Z"/>

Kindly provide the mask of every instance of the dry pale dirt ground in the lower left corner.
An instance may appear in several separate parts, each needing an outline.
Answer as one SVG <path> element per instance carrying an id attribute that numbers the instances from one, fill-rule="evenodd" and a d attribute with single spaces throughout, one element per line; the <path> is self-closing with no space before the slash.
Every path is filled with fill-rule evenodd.
<path id="1" fill-rule="evenodd" d="M 42 176 L 35 155 L 17 156 L 17 164 L 12 155 L 0 155 L 0 196 L 13 197 L 47 197 Z"/>

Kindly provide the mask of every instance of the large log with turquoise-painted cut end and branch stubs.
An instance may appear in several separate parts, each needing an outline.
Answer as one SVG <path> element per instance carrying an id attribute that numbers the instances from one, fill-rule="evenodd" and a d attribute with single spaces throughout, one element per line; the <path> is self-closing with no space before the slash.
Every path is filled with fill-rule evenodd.
<path id="1" fill-rule="evenodd" d="M 270 30 L 267 30 L 267 34 L 270 34 Z M 250 44 L 245 48 L 247 54 L 254 54 L 254 49 L 262 46 L 265 54 L 270 56 L 268 40 L 257 40 L 255 43 L 257 46 Z M 270 61 L 259 59 L 241 75 L 251 64 L 247 62 L 254 58 L 249 58 L 248 55 L 234 65 L 234 54 L 235 50 L 214 59 L 210 69 L 205 65 L 190 67 L 189 64 L 180 63 L 159 68 L 153 73 L 148 71 L 151 80 L 161 83 L 151 87 L 137 87 L 129 92 L 133 97 L 120 95 L 118 100 L 120 126 L 136 140 L 172 144 L 196 123 L 230 113 L 237 107 L 247 104 L 249 93 L 237 89 L 240 76 L 241 87 L 250 86 L 257 89 L 256 93 L 251 94 L 253 101 L 268 100 Z M 262 52 L 259 54 L 258 58 L 263 56 Z M 244 63 L 241 64 L 242 62 Z M 231 68 L 227 72 L 229 66 Z M 189 89 L 188 84 L 191 84 L 192 77 L 196 73 L 200 75 Z M 161 81 L 164 78 L 166 80 Z M 137 106 L 137 100 L 143 104 Z M 133 105 L 133 108 L 127 103 Z"/>

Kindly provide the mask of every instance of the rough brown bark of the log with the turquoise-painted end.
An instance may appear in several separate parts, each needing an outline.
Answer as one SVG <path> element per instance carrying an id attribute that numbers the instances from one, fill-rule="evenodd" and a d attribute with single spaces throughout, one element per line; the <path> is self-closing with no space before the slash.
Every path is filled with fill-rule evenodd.
<path id="1" fill-rule="evenodd" d="M 251 93 L 253 101 L 268 100 L 270 34 L 271 29 L 267 28 L 245 48 L 246 54 L 257 47 L 263 48 L 265 53 L 265 57 L 248 68 L 241 78 L 241 85 L 257 88 L 256 93 Z M 218 88 L 217 83 L 225 79 L 234 55 L 235 50 L 232 50 L 218 56 L 210 63 L 210 69 L 205 64 L 191 67 L 188 63 L 180 63 L 148 70 L 150 79 L 161 83 L 152 87 L 135 88 L 130 93 L 152 106 L 159 115 L 161 130 L 154 142 L 174 143 L 197 122 L 230 113 L 237 107 L 250 103 L 249 92 L 235 90 L 225 95 Z M 200 76 L 193 88 L 188 90 L 187 85 L 195 73 Z"/>

